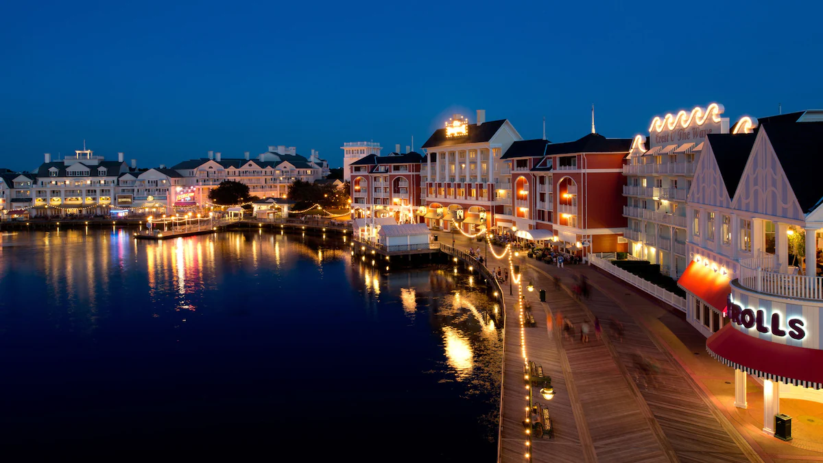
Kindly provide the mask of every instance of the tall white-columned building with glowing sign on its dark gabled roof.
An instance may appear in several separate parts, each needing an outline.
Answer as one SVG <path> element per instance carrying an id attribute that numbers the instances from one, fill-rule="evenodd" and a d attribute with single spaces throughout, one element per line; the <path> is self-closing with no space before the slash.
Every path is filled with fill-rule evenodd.
<path id="1" fill-rule="evenodd" d="M 506 119 L 486 122 L 477 110 L 477 123 L 453 115 L 423 143 L 422 191 L 430 228 L 463 232 L 495 224 L 495 214 L 512 215 L 511 171 L 501 161 L 512 143 L 523 137 Z"/>

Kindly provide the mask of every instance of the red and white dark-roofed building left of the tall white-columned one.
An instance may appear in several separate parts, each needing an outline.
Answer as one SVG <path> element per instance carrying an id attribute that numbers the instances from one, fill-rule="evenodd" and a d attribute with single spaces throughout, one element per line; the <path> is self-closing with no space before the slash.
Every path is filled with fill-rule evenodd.
<path id="1" fill-rule="evenodd" d="M 370 154 L 349 165 L 351 208 L 356 217 L 393 217 L 418 222 L 421 207 L 421 162 L 418 152 Z"/>

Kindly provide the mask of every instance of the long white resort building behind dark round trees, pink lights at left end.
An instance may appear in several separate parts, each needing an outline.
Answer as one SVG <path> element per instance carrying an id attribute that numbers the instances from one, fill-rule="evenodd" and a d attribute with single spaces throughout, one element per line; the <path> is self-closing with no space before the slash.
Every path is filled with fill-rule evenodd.
<path id="1" fill-rule="evenodd" d="M 313 152 L 313 157 L 317 155 Z M 328 169 L 328 164 L 326 165 Z M 251 159 L 249 152 L 242 158 L 223 158 L 220 152 L 208 152 L 208 157 L 183 161 L 172 166 L 183 175 L 183 185 L 193 192 L 193 203 L 207 205 L 208 192 L 221 182 L 233 180 L 249 186 L 249 194 L 260 198 L 286 198 L 289 185 L 295 180 L 313 183 L 323 176 L 323 166 L 296 153 L 295 147 L 270 146 L 267 152 Z M 188 208 L 175 199 L 175 206 Z"/>

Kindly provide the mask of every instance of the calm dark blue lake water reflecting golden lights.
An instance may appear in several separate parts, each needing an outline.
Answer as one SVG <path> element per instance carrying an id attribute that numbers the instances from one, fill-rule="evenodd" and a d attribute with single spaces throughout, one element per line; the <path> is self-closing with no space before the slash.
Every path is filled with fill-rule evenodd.
<path id="1" fill-rule="evenodd" d="M 495 305 L 467 274 L 387 274 L 348 249 L 258 231 L 0 236 L 0 443 L 494 461 Z"/>

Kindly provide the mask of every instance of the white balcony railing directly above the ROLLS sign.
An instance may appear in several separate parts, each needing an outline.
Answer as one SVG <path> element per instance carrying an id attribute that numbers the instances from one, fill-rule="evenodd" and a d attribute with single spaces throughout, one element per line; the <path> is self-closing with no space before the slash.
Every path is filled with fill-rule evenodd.
<path id="1" fill-rule="evenodd" d="M 741 260 L 737 282 L 745 288 L 774 296 L 823 300 L 823 277 L 780 273 L 771 256 Z"/>

